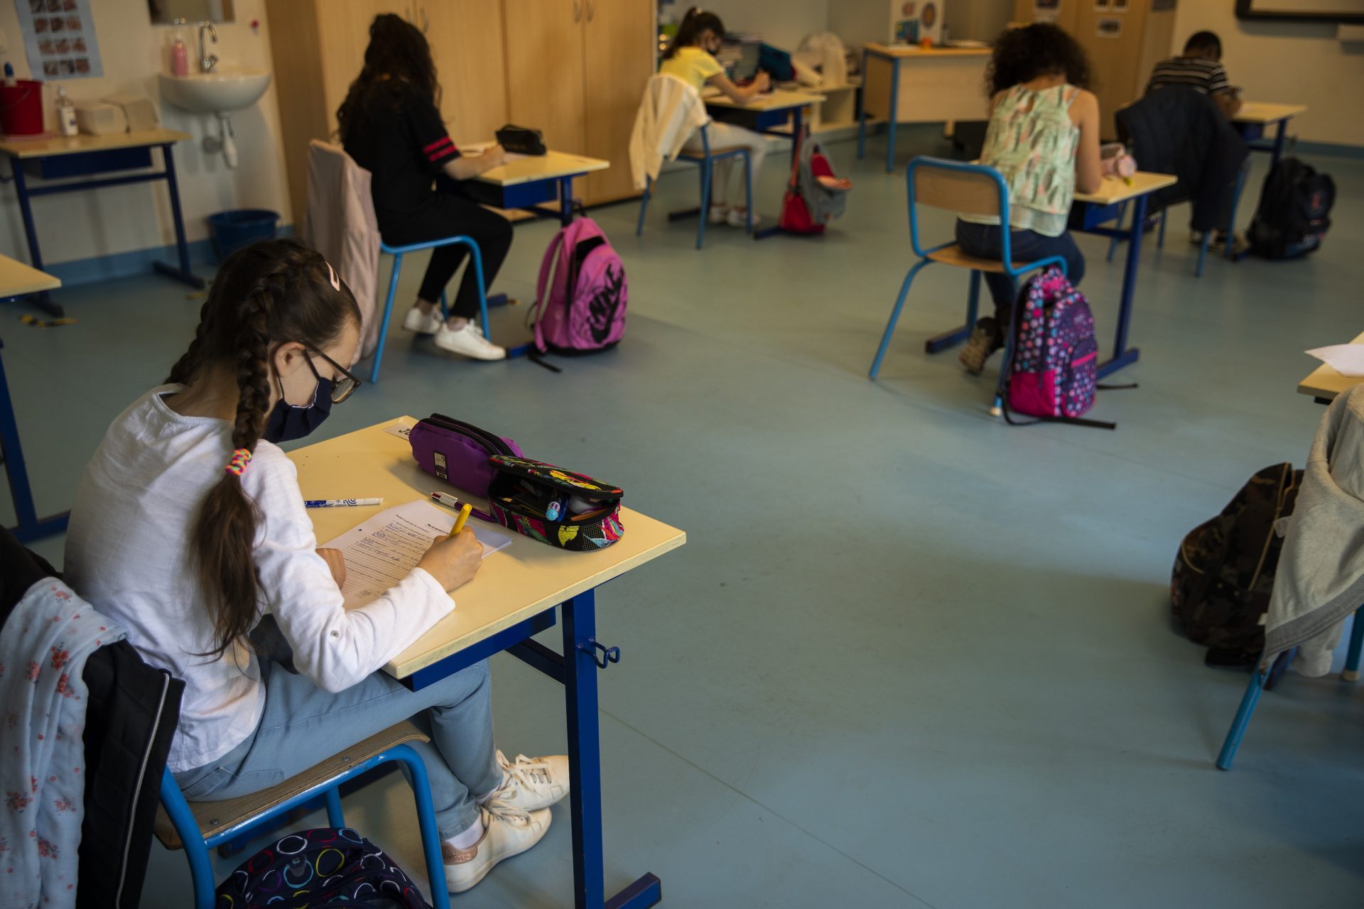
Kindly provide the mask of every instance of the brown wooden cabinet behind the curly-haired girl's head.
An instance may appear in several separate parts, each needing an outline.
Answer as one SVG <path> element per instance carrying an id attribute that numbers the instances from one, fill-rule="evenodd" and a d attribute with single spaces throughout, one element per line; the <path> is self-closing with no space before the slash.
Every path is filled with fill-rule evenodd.
<path id="1" fill-rule="evenodd" d="M 1033 0 L 1015 0 L 1018 22 L 1031 22 Z M 1159 0 L 1060 0 L 1056 25 L 1090 59 L 1090 89 L 1099 99 L 1102 135 L 1117 135 L 1113 113 L 1146 91 L 1151 68 L 1174 53 L 1174 4 Z"/>

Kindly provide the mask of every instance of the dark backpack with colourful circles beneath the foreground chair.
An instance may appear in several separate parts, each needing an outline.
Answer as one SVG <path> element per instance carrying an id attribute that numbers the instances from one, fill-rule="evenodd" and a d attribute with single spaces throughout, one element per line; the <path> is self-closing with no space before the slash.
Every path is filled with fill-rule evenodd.
<path id="1" fill-rule="evenodd" d="M 412 879 L 349 827 L 281 837 L 233 871 L 216 909 L 431 909 Z"/>

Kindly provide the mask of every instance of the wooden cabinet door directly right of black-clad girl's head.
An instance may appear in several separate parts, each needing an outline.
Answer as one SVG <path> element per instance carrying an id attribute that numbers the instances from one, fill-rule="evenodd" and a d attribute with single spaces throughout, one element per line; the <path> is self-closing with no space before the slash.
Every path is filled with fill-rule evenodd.
<path id="1" fill-rule="evenodd" d="M 490 142 L 507 121 L 502 0 L 423 0 L 417 19 L 435 59 L 450 138 Z"/>

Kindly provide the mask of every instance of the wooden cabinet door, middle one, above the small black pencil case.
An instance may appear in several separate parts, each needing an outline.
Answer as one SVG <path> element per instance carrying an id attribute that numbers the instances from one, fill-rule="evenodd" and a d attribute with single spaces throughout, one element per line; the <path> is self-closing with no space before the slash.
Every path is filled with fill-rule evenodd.
<path id="1" fill-rule="evenodd" d="M 441 0 L 443 1 L 443 0 Z M 503 0 L 507 120 L 555 151 L 587 154 L 584 0 Z"/>

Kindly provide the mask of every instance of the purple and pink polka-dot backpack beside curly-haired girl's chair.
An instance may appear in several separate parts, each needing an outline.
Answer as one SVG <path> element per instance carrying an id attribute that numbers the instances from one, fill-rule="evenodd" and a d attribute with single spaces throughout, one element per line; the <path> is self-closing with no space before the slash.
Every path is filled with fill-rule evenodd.
<path id="1" fill-rule="evenodd" d="M 1004 395 L 1013 413 L 1056 422 L 1113 429 L 1116 424 L 1080 417 L 1094 406 L 1098 352 L 1094 316 L 1084 296 L 1052 266 L 1035 275 L 1015 307 L 1013 350 Z"/>

